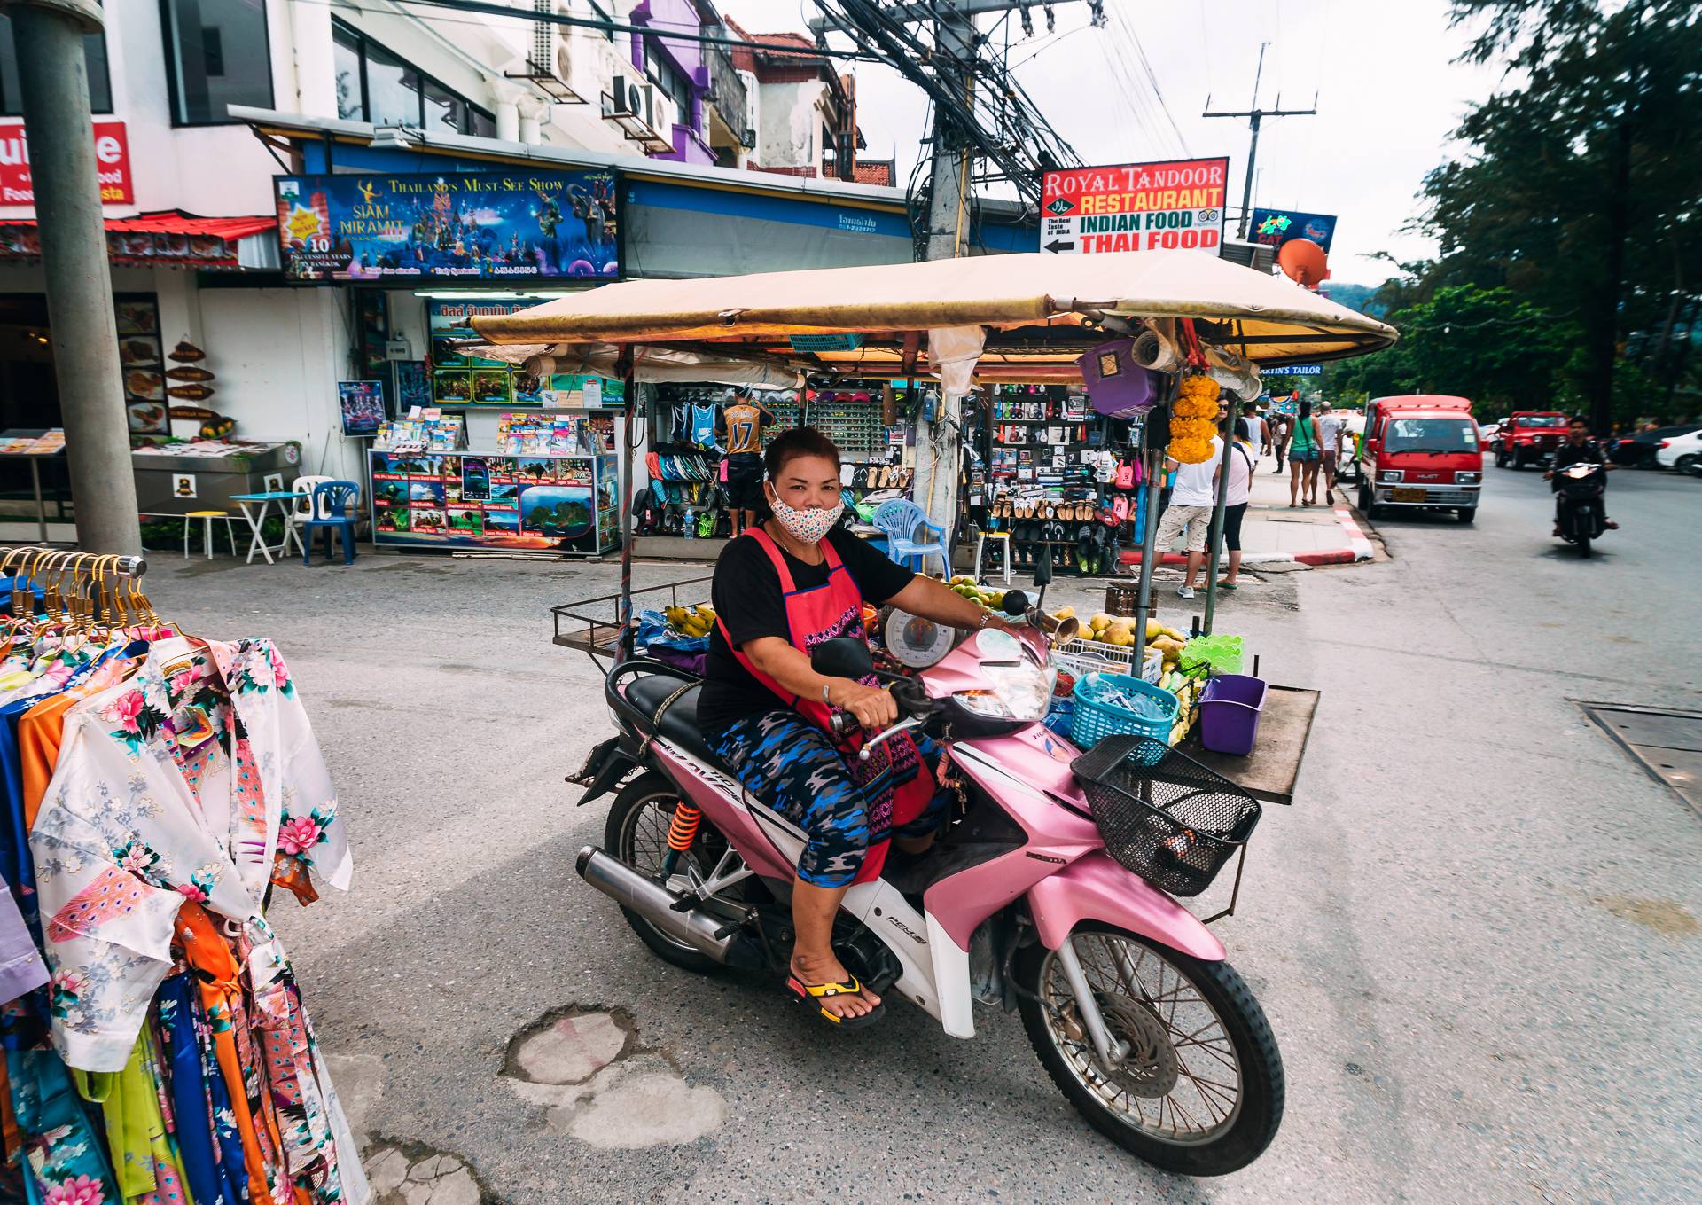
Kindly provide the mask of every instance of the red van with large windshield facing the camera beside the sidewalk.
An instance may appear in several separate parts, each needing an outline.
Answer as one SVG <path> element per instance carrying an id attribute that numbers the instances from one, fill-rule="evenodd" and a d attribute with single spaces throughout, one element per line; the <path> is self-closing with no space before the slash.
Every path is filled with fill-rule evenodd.
<path id="1" fill-rule="evenodd" d="M 1454 511 L 1477 517 L 1484 454 L 1469 398 L 1414 393 L 1374 398 L 1365 408 L 1358 505 L 1367 519 L 1385 511 Z"/>

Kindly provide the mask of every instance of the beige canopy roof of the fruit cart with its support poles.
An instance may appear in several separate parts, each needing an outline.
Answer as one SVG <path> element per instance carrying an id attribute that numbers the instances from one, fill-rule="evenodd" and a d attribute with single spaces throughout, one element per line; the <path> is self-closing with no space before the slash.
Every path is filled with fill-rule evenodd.
<path id="1" fill-rule="evenodd" d="M 965 395 L 972 383 L 1081 383 L 1086 373 L 1101 412 L 1115 412 L 1098 403 L 1106 391 L 1130 397 L 1125 414 L 1147 415 L 1140 616 L 1152 608 L 1162 458 L 1203 460 L 1214 434 L 1217 398 L 1207 412 L 1202 393 L 1185 395 L 1185 378 L 1210 378 L 1251 400 L 1261 366 L 1345 359 L 1396 340 L 1392 327 L 1287 277 L 1164 250 L 628 281 L 517 313 L 475 317 L 471 325 L 482 354 L 625 378 L 628 397 L 637 397 L 635 385 L 667 381 L 790 388 L 807 373 L 933 376 L 948 393 Z M 856 339 L 827 351 L 834 340 L 824 335 Z M 805 342 L 815 351 L 797 349 Z M 631 482 L 633 451 L 620 449 L 623 482 Z M 1225 441 L 1225 461 L 1227 454 Z M 620 633 L 631 633 L 630 524 L 628 487 L 621 592 L 591 642 L 609 652 Z M 1219 516 L 1208 563 L 1215 563 L 1220 526 Z M 1207 580 L 1215 584 L 1215 574 Z M 1207 633 L 1212 602 L 1208 589 Z M 1151 638 L 1142 628 L 1142 654 Z"/>

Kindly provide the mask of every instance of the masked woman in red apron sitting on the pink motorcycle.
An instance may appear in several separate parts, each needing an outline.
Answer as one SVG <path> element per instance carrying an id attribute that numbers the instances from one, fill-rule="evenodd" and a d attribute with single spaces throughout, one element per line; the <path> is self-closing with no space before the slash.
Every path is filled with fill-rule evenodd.
<path id="1" fill-rule="evenodd" d="M 803 829 L 786 985 L 825 1021 L 854 1028 L 875 1021 L 882 1004 L 834 953 L 834 916 L 851 883 L 880 875 L 888 839 L 905 854 L 933 842 L 945 819 L 934 783 L 940 749 L 899 734 L 860 761 L 863 734 L 832 735 L 834 710 L 878 730 L 897 720 L 897 706 L 873 677 L 815 672 L 810 650 L 834 637 L 861 638 L 865 599 L 953 628 L 1004 621 L 839 526 L 839 449 L 822 432 L 800 427 L 776 437 L 764 468 L 771 514 L 715 565 L 718 618 L 698 723 L 745 790 Z"/>

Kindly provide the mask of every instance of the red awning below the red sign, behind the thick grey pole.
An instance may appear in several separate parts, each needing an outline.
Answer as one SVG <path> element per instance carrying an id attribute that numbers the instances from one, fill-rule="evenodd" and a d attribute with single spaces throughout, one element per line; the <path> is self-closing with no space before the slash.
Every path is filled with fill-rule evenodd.
<path id="1" fill-rule="evenodd" d="M 114 264 L 153 267 L 277 267 L 277 218 L 199 218 L 182 209 L 107 218 L 107 255 Z M 0 221 L 0 260 L 41 259 L 34 218 Z"/>

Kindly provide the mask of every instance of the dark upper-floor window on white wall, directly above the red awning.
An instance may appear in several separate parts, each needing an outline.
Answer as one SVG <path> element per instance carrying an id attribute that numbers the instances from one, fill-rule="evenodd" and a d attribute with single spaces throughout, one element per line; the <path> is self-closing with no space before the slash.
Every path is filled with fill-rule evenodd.
<path id="1" fill-rule="evenodd" d="M 228 106 L 272 107 L 264 0 L 162 0 L 172 121 L 231 121 Z"/>

